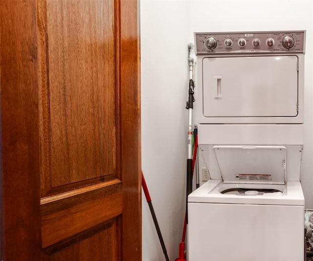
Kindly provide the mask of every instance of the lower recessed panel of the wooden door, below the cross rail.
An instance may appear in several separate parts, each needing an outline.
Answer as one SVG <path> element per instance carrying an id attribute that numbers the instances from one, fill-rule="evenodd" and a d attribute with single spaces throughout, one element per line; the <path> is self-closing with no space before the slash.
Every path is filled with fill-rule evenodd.
<path id="1" fill-rule="evenodd" d="M 116 261 L 118 260 L 116 221 L 106 230 L 53 255 L 43 261 Z M 106 242 L 104 245 L 103 242 Z"/>

